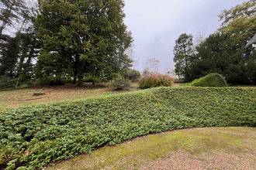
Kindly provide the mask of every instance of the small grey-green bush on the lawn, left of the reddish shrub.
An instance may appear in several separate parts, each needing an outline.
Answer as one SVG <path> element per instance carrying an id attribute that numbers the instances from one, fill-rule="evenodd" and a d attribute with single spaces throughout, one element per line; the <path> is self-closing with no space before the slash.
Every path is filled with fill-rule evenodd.
<path id="1" fill-rule="evenodd" d="M 109 81 L 109 87 L 116 90 L 123 90 L 130 87 L 130 80 L 127 80 L 118 74 L 113 80 Z"/>

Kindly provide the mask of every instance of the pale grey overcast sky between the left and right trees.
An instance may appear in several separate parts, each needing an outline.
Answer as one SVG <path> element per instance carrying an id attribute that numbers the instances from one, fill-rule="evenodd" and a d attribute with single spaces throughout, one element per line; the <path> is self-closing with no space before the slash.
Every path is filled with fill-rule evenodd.
<path id="1" fill-rule="evenodd" d="M 182 33 L 209 36 L 220 27 L 218 15 L 245 0 L 125 0 L 124 20 L 133 33 L 133 67 L 144 70 L 147 59 L 173 70 L 172 49 Z"/>

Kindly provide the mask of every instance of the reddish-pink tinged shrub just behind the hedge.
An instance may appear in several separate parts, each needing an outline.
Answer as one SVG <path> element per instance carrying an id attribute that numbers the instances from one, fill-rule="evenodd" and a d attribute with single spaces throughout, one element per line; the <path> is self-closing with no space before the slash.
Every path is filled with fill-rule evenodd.
<path id="1" fill-rule="evenodd" d="M 169 87 L 174 82 L 174 78 L 171 76 L 163 75 L 161 73 L 147 73 L 140 77 L 139 87 L 141 89 L 151 87 Z"/>

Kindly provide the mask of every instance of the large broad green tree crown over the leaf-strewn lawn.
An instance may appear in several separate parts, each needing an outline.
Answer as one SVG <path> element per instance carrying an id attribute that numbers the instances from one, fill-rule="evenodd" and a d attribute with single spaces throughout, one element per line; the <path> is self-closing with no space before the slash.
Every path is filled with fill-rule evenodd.
<path id="1" fill-rule="evenodd" d="M 132 60 L 125 50 L 132 37 L 123 23 L 124 2 L 44 0 L 35 27 L 43 41 L 40 76 L 93 77 L 117 73 Z M 50 17 L 49 17 L 50 16 Z"/>

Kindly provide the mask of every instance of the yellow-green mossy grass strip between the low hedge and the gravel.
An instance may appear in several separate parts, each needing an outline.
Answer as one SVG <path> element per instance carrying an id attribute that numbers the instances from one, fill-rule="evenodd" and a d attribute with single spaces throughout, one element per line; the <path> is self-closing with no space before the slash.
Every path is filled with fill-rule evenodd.
<path id="1" fill-rule="evenodd" d="M 92 153 L 79 155 L 61 164 L 47 168 L 52 169 L 137 169 L 156 160 L 168 158 L 179 151 L 194 156 L 198 161 L 200 155 L 216 155 L 222 151 L 230 155 L 255 155 L 255 128 L 193 128 L 150 134 L 135 138 L 116 146 L 99 148 Z M 253 159 L 253 158 L 248 158 Z M 252 160 L 256 163 L 256 160 Z M 203 158 L 207 162 L 207 158 Z M 237 162 L 238 163 L 238 162 Z"/>

